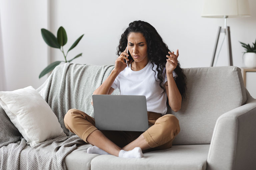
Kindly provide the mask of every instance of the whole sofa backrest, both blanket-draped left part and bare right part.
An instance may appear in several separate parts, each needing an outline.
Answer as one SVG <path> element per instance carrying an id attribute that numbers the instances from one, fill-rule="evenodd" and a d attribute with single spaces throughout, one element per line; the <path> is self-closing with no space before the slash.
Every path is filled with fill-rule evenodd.
<path id="1" fill-rule="evenodd" d="M 109 76 L 114 65 L 66 63 L 55 67 L 37 91 L 52 108 L 67 135 L 74 135 L 64 125 L 69 109 L 81 110 L 94 117 L 92 93 Z M 246 102 L 241 69 L 235 66 L 184 68 L 187 77 L 187 100 L 181 110 L 167 114 L 179 119 L 177 144 L 210 144 L 217 118 Z M 119 95 L 118 88 L 112 95 Z"/>

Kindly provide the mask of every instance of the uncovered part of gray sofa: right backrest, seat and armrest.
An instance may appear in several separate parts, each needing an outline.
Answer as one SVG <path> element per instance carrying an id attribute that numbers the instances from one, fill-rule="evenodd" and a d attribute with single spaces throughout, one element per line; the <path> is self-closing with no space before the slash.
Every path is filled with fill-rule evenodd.
<path id="1" fill-rule="evenodd" d="M 256 99 L 235 66 L 184 68 L 187 100 L 175 115 L 180 133 L 166 150 L 144 158 L 89 154 L 82 144 L 65 157 L 68 169 L 244 170 L 256 169 Z"/>

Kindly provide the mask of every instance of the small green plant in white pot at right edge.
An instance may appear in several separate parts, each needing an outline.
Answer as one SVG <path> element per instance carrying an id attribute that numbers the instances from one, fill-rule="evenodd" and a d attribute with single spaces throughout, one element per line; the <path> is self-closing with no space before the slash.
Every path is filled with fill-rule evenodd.
<path id="1" fill-rule="evenodd" d="M 240 43 L 246 49 L 246 52 L 243 52 L 243 62 L 245 66 L 248 68 L 256 68 L 256 40 L 254 43 L 252 43 L 252 46 L 243 42 Z"/>

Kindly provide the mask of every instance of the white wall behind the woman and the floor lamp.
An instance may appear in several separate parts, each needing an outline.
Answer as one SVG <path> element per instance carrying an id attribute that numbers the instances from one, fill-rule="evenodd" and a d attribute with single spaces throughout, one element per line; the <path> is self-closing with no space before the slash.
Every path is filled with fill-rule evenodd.
<path id="1" fill-rule="evenodd" d="M 179 49 L 181 66 L 210 66 L 214 43 L 219 26 L 224 27 L 224 19 L 202 18 L 202 0 L 181 1 L 76 1 L 55 0 L 51 15 L 51 29 L 56 34 L 60 26 L 66 29 L 67 50 L 82 34 L 85 34 L 76 48 L 68 54 L 72 58 L 83 52 L 83 56 L 74 63 L 114 64 L 116 47 L 121 34 L 128 24 L 143 20 L 153 25 L 170 49 Z M 228 18 L 231 30 L 233 65 L 241 67 L 243 47 L 238 41 L 255 41 L 256 2 L 249 0 L 251 17 Z M 137 10 L 137 12 L 136 12 Z M 134 12 L 133 12 L 134 11 Z M 224 34 L 224 33 L 222 33 Z M 254 36 L 252 36 L 254 35 Z M 222 35 L 223 37 L 223 35 Z M 222 41 L 220 37 L 220 42 Z M 219 45 L 221 44 L 219 42 Z M 52 48 L 52 59 L 63 60 L 58 49 Z M 218 52 L 218 50 L 217 50 Z M 223 47 L 216 66 L 228 65 L 227 42 Z"/>

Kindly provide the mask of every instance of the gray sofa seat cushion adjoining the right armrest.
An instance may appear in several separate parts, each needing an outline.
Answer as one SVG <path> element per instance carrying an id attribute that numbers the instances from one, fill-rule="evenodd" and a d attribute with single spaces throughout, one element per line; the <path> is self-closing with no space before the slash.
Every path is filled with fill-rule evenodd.
<path id="1" fill-rule="evenodd" d="M 143 158 L 99 155 L 92 159 L 91 170 L 205 170 L 209 147 L 210 145 L 175 145 L 169 149 L 144 153 Z"/>

